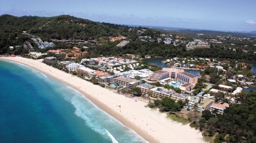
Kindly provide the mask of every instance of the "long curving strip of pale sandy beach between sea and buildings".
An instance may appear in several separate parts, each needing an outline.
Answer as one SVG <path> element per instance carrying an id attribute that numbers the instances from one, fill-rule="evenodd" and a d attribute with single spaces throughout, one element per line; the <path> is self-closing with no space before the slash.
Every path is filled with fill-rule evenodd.
<path id="1" fill-rule="evenodd" d="M 203 143 L 202 133 L 166 118 L 165 113 L 146 108 L 147 103 L 136 101 L 111 90 L 101 88 L 74 75 L 42 63 L 22 57 L 0 57 L 27 65 L 73 87 L 96 106 L 121 121 L 150 143 Z"/>

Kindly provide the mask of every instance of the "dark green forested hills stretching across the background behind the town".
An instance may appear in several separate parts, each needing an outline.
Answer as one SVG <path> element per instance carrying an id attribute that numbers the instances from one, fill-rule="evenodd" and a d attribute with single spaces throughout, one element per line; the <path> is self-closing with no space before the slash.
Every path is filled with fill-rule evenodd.
<path id="1" fill-rule="evenodd" d="M 130 29 L 132 28 L 132 30 Z M 152 28 L 128 27 L 125 25 L 107 24 L 93 22 L 81 18 L 75 18 L 69 15 L 61 15 L 56 17 L 36 17 L 23 16 L 14 17 L 11 15 L 0 16 L 0 54 L 26 54 L 27 49 L 22 48 L 26 41 L 30 42 L 36 51 L 45 52 L 46 49 L 38 49 L 34 45 L 29 35 L 23 34 L 23 31 L 40 37 L 43 41 L 51 40 L 95 40 L 96 45 L 76 45 L 79 48 L 83 46 L 90 47 L 89 53 L 111 56 L 123 54 L 135 54 L 144 57 L 145 55 L 163 56 L 163 57 L 207 57 L 207 58 L 222 58 L 222 59 L 242 59 L 254 60 L 255 40 L 250 41 L 232 41 L 226 40 L 224 44 L 211 44 L 210 48 L 195 48 L 187 50 L 186 44 L 193 40 L 192 37 L 179 37 L 173 34 L 173 41 L 178 40 L 176 45 L 164 44 L 164 38 L 159 31 Z M 124 47 L 117 47 L 121 42 L 110 42 L 109 37 L 125 36 L 129 41 Z M 143 36 L 151 38 L 140 38 Z M 160 39 L 160 40 L 158 40 Z M 204 39 L 205 40 L 205 39 Z M 235 46 L 230 47 L 234 43 Z M 248 47 L 244 47 L 244 45 Z M 13 50 L 8 49 L 9 46 L 21 46 Z M 55 43 L 54 49 L 57 48 L 72 48 L 74 45 L 65 44 L 64 42 Z M 93 47 L 93 48 L 92 48 Z M 236 52 L 232 50 L 224 50 L 224 47 L 236 48 Z M 248 50 L 244 52 L 243 50 Z"/>

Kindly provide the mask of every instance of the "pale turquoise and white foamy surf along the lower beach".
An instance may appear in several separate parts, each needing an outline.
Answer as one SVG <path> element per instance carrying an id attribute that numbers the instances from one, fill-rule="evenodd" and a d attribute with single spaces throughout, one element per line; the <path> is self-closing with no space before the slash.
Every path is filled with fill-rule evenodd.
<path id="1" fill-rule="evenodd" d="M 72 93 L 79 92 L 74 91 Z M 148 143 L 136 132 L 99 109 L 80 93 L 71 98 L 71 103 L 76 109 L 75 115 L 84 119 L 85 123 L 91 129 L 101 134 L 104 138 L 111 139 L 112 142 L 115 140 L 122 143 Z M 110 134 L 109 131 L 111 131 L 112 134 Z"/>

